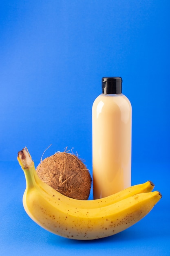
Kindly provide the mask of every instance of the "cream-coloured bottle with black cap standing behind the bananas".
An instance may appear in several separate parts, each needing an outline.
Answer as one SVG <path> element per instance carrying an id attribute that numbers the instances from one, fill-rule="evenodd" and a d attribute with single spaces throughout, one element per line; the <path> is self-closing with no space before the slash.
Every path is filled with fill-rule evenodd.
<path id="1" fill-rule="evenodd" d="M 132 107 L 121 77 L 103 77 L 92 108 L 93 198 L 131 186 Z"/>

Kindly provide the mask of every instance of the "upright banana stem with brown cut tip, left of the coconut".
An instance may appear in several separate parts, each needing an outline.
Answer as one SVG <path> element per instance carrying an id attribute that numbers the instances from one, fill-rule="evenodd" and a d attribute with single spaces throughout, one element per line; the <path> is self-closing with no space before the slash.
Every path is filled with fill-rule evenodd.
<path id="1" fill-rule="evenodd" d="M 24 171 L 24 175 L 26 179 L 26 188 L 34 187 L 36 184 L 35 178 L 34 178 L 35 165 L 26 147 L 18 152 L 17 159 L 22 170 Z"/>

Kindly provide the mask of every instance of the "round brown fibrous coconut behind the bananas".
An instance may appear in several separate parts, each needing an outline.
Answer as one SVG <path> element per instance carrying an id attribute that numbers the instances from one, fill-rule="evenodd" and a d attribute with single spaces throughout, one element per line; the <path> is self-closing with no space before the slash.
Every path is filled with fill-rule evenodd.
<path id="1" fill-rule="evenodd" d="M 36 168 L 37 174 L 56 191 L 70 198 L 87 200 L 91 175 L 85 164 L 71 153 L 57 152 L 46 157 Z"/>

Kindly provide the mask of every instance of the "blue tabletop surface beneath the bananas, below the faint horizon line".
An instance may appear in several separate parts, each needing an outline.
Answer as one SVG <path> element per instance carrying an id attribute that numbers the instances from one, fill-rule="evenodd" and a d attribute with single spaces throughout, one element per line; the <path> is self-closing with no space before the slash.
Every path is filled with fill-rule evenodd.
<path id="1" fill-rule="evenodd" d="M 144 219 L 119 234 L 99 240 L 76 241 L 49 233 L 27 216 L 22 206 L 23 171 L 16 162 L 0 162 L 0 255 L 169 256 L 169 166 L 136 165 L 132 172 L 133 184 L 152 180 L 154 190 L 163 194 L 162 199 Z"/>

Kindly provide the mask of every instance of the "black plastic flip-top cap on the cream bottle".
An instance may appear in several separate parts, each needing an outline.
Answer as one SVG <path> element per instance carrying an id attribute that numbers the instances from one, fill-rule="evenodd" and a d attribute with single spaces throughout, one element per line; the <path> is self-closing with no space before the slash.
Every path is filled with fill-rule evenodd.
<path id="1" fill-rule="evenodd" d="M 102 93 L 119 94 L 122 91 L 121 77 L 102 77 Z"/>

